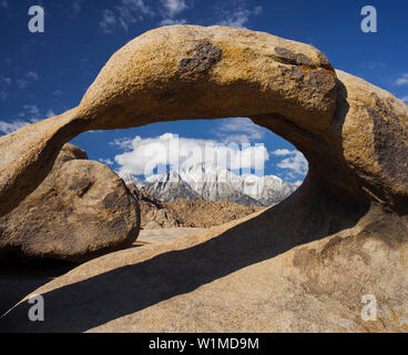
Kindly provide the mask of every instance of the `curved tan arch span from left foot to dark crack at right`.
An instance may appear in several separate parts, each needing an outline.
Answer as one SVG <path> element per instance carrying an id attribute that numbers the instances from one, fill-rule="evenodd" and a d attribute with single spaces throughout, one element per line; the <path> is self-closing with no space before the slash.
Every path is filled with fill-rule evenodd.
<path id="1" fill-rule="evenodd" d="M 336 90 L 326 55 L 307 44 L 217 26 L 149 31 L 112 55 L 78 108 L 0 138 L 0 215 L 47 176 L 55 152 L 81 132 L 266 113 L 323 130 Z"/>

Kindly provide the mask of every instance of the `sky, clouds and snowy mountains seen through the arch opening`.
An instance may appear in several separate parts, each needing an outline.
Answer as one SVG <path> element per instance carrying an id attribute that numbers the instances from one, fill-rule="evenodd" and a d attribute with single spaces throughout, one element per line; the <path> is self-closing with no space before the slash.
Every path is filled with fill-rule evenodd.
<path id="1" fill-rule="evenodd" d="M 101 141 L 109 144 L 101 148 Z M 276 205 L 302 184 L 308 169 L 295 146 L 247 118 L 154 123 L 81 134 L 71 142 L 164 203 Z"/>

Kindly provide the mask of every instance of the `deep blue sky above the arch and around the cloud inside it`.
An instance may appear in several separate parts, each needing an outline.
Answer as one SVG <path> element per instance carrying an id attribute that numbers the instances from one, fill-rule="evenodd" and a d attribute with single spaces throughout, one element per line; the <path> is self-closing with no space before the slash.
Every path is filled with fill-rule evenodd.
<path id="1" fill-rule="evenodd" d="M 43 33 L 28 30 L 33 4 L 44 8 Z M 377 33 L 360 30 L 360 11 L 368 4 L 377 9 Z M 335 68 L 408 102 L 407 17 L 408 2 L 396 0 L 0 0 L 0 134 L 78 105 L 118 49 L 146 30 L 172 23 L 243 27 L 309 43 L 325 52 Z M 88 132 L 72 142 L 90 159 L 104 160 L 119 171 L 132 169 L 129 160 L 142 145 L 176 133 L 198 146 L 264 143 L 265 173 L 285 180 L 303 179 L 307 170 L 288 142 L 245 119 Z"/>

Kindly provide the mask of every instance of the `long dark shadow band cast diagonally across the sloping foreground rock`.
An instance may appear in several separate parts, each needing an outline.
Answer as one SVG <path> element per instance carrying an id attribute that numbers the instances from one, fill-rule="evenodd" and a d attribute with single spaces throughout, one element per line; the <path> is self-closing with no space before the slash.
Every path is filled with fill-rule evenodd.
<path id="1" fill-rule="evenodd" d="M 85 332 L 193 292 L 298 244 L 353 226 L 367 211 L 356 210 L 354 217 L 345 223 L 336 219 L 332 221 L 322 209 L 332 214 L 335 211 L 330 207 L 335 204 L 322 205 L 320 196 L 304 202 L 303 206 L 298 204 L 307 191 L 306 184 L 279 205 L 201 244 L 170 251 L 48 292 L 43 294 L 44 322 L 30 322 L 28 311 L 32 304 L 21 303 L 0 320 L 0 331 Z M 316 209 L 317 214 L 310 216 L 310 209 Z M 339 215 L 343 213 L 337 212 Z M 111 255 L 121 257 L 120 253 Z"/>

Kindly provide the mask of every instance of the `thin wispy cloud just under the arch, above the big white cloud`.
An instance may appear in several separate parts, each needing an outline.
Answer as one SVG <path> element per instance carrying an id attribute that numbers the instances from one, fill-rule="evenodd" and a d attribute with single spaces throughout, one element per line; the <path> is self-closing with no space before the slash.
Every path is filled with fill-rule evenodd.
<path id="1" fill-rule="evenodd" d="M 261 140 L 266 129 L 255 124 L 247 118 L 228 119 L 220 123 L 214 133 L 224 142 L 247 143 L 252 140 Z"/>

